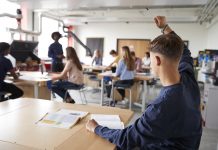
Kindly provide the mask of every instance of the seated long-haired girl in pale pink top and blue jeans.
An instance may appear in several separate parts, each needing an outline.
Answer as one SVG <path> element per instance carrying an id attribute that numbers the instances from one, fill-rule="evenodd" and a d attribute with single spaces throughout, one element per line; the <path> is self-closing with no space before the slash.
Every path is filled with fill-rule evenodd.
<path id="1" fill-rule="evenodd" d="M 58 94 L 61 98 L 65 98 L 67 87 L 79 88 L 83 84 L 83 72 L 76 51 L 72 47 L 66 48 L 67 62 L 64 70 L 60 74 L 52 74 L 52 80 L 59 80 L 53 83 L 52 91 Z M 67 80 L 65 80 L 68 78 Z M 67 93 L 66 102 L 75 103 L 70 94 Z"/>

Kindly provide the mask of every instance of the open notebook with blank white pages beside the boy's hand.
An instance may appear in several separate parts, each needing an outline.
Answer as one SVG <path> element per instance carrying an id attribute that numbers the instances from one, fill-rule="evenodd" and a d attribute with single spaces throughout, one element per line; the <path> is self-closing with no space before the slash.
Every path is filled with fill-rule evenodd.
<path id="1" fill-rule="evenodd" d="M 110 129 L 124 129 L 124 123 L 121 122 L 119 115 L 92 114 L 91 119 Z"/>

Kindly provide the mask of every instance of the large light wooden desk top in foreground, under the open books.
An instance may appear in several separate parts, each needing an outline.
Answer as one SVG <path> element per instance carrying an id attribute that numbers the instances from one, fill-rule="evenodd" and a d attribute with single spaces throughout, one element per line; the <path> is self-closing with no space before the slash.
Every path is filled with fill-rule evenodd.
<path id="1" fill-rule="evenodd" d="M 1 110 L 2 108 L 4 109 Z M 61 108 L 88 111 L 90 114 L 118 114 L 125 124 L 133 115 L 130 110 L 96 105 L 73 105 L 38 99 L 11 100 L 0 103 L 0 141 L 43 150 L 115 148 L 115 145 L 85 129 L 90 115 L 72 129 L 41 127 L 35 124 L 47 112 Z"/>

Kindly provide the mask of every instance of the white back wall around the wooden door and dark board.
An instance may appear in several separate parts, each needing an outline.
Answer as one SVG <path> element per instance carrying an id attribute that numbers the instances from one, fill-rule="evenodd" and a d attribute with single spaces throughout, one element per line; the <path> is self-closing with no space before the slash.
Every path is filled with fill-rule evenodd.
<path id="1" fill-rule="evenodd" d="M 189 48 L 192 56 L 196 57 L 199 50 L 206 48 L 207 29 L 199 24 L 170 24 L 170 26 L 183 38 L 189 40 Z M 118 38 L 154 39 L 160 35 L 160 30 L 154 24 L 87 24 L 75 27 L 75 33 L 86 44 L 86 38 L 104 38 L 104 56 L 108 57 L 111 49 L 116 49 Z M 85 50 L 77 42 L 75 48 L 81 59 L 85 63 L 90 63 L 90 58 L 85 57 Z M 108 59 L 104 57 L 104 64 L 108 64 Z M 106 62 L 105 62 L 106 60 Z"/>

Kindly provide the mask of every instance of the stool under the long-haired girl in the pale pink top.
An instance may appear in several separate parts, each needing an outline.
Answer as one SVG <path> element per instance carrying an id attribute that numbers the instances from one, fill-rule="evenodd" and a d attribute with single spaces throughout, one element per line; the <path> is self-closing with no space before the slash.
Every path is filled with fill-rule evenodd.
<path id="1" fill-rule="evenodd" d="M 65 88 L 66 92 L 65 92 L 65 94 L 64 94 L 64 101 L 66 101 L 68 90 L 75 90 L 75 91 L 78 91 L 78 92 L 79 92 L 79 94 L 80 94 L 80 99 L 81 99 L 81 101 L 82 101 L 82 104 L 84 104 L 84 100 L 85 100 L 85 104 L 87 104 L 86 95 L 85 95 L 85 93 L 84 93 L 84 88 L 85 88 L 84 84 L 80 85 L 79 87 L 67 86 L 67 87 Z M 83 95 L 83 98 L 84 98 L 84 99 L 82 98 L 82 95 Z"/>

